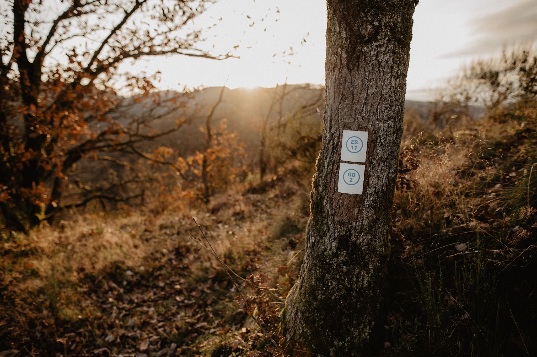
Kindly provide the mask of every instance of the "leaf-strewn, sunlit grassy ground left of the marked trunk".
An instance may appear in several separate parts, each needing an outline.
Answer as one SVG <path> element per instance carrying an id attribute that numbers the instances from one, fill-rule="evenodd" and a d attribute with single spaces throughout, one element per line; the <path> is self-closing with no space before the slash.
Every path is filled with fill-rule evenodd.
<path id="1" fill-rule="evenodd" d="M 277 331 L 301 262 L 308 188 L 273 182 L 257 190 L 216 195 L 199 210 L 82 216 L 3 243 L 0 351 L 273 355 L 192 220 L 238 274 L 253 314 Z"/>

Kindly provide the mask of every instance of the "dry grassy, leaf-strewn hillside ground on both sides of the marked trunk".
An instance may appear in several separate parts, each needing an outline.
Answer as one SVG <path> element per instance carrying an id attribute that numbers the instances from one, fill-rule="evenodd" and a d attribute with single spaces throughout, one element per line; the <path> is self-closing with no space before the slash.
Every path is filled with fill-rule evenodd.
<path id="1" fill-rule="evenodd" d="M 537 355 L 537 130 L 484 121 L 461 133 L 401 150 L 386 333 L 372 356 Z M 279 315 L 313 170 L 289 165 L 208 205 L 72 213 L 12 232 L 0 245 L 0 357 L 268 357 L 272 340 L 307 355 L 285 344 Z"/>

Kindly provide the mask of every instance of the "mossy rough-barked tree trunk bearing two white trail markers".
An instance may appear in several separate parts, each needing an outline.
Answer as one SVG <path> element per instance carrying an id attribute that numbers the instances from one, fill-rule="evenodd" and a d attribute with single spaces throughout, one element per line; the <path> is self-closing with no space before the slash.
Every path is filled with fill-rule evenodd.
<path id="1" fill-rule="evenodd" d="M 373 347 L 389 258 L 417 1 L 328 0 L 323 143 L 299 281 L 282 315 L 288 340 L 324 355 Z M 364 193 L 338 193 L 343 130 L 368 132 Z M 380 325 L 380 326 L 379 326 Z"/>

